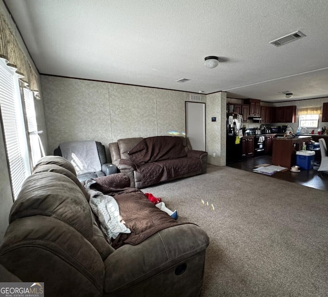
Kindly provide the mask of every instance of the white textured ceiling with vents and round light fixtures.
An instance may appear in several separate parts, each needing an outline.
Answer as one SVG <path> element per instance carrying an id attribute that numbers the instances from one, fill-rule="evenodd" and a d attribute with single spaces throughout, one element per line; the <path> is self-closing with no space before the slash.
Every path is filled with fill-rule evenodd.
<path id="1" fill-rule="evenodd" d="M 327 0 L 4 1 L 42 74 L 268 102 L 328 97 Z M 297 30 L 306 36 L 269 44 Z"/>

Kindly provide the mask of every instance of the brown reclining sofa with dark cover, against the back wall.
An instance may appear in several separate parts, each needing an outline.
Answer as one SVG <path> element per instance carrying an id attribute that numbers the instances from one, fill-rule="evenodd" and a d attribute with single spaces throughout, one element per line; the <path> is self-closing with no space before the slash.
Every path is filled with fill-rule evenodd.
<path id="1" fill-rule="evenodd" d="M 206 173 L 208 153 L 192 150 L 178 136 L 119 139 L 109 143 L 112 163 L 129 176 L 131 186 L 150 185 Z"/>

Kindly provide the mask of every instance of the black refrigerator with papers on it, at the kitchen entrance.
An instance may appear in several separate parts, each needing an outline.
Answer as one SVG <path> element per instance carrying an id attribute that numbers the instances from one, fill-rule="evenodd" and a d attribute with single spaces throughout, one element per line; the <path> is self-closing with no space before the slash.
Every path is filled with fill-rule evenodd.
<path id="1" fill-rule="evenodd" d="M 227 114 L 226 163 L 240 162 L 242 159 L 242 115 Z"/>

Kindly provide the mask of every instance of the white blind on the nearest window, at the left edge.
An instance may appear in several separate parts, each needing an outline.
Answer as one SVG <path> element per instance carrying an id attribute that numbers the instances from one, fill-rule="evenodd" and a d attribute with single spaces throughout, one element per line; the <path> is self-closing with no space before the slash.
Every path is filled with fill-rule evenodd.
<path id="1" fill-rule="evenodd" d="M 16 79 L 16 81 L 14 81 Z M 22 107 L 20 98 L 17 98 L 18 77 L 14 70 L 0 63 L 0 107 L 5 137 L 6 153 L 9 164 L 10 180 L 14 199 L 17 198 L 20 188 L 30 174 L 27 166 L 27 144 L 22 133 Z M 19 87 L 18 87 L 19 88 Z M 20 103 L 20 106 L 19 106 Z M 24 129 L 23 129 L 24 130 Z"/>

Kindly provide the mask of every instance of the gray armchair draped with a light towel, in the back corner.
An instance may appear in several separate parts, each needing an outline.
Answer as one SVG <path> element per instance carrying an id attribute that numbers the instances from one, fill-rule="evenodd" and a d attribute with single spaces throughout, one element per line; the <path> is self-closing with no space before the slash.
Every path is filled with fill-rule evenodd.
<path id="1" fill-rule="evenodd" d="M 105 146 L 99 141 L 71 141 L 60 143 L 53 152 L 70 161 L 79 181 L 117 173 L 117 167 L 107 163 Z"/>

